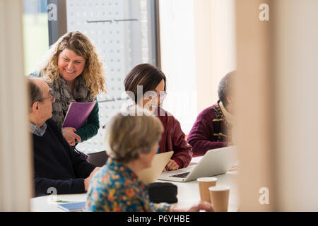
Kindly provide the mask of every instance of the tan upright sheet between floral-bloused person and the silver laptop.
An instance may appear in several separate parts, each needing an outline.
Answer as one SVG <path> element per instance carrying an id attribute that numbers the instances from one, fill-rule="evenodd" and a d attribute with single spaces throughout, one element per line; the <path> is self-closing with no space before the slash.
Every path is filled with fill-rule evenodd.
<path id="1" fill-rule="evenodd" d="M 151 167 L 147 169 L 143 169 L 139 172 L 138 177 L 145 184 L 153 183 L 157 180 L 158 176 L 165 166 L 169 162 L 172 157 L 173 151 L 169 151 L 167 153 L 159 153 L 153 157 L 153 162 L 151 163 Z"/>

